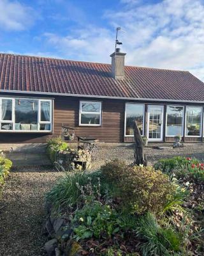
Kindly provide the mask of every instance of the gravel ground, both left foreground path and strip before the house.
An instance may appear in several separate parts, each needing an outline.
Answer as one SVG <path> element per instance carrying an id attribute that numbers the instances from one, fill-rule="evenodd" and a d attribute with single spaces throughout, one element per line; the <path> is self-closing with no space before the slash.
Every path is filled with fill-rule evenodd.
<path id="1" fill-rule="evenodd" d="M 161 145 L 161 147 L 163 147 Z M 204 144 L 187 144 L 184 148 L 145 148 L 149 164 L 161 157 L 191 156 L 204 159 Z M 101 148 L 93 169 L 106 160 L 119 158 L 133 161 L 133 147 Z M 45 219 L 45 193 L 52 188 L 62 173 L 50 167 L 15 168 L 4 188 L 0 201 L 0 255 L 43 256 L 46 237 L 41 236 Z"/>

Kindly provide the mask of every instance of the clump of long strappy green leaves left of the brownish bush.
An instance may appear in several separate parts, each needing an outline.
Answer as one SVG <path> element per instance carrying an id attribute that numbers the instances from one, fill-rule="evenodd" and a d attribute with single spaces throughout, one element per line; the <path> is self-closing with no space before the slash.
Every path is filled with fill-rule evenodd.
<path id="1" fill-rule="evenodd" d="M 47 194 L 47 200 L 61 211 L 63 207 L 80 207 L 87 200 L 99 200 L 105 194 L 108 196 L 110 189 L 111 187 L 104 182 L 101 172 L 64 173 Z"/>

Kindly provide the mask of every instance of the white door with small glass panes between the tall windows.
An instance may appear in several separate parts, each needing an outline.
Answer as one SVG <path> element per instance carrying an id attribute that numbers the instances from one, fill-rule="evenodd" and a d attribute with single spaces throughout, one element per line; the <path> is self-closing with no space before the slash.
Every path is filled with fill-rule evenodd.
<path id="1" fill-rule="evenodd" d="M 163 115 L 163 106 L 148 106 L 147 136 L 149 141 L 163 141 Z"/>

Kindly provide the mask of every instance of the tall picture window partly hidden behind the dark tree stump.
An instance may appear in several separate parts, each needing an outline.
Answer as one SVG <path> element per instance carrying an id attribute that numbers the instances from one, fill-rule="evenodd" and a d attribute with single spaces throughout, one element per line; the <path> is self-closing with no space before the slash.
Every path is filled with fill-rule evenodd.
<path id="1" fill-rule="evenodd" d="M 143 120 L 145 106 L 142 104 L 126 104 L 125 135 L 133 136 L 133 122 L 136 120 L 141 135 L 143 135 Z"/>

